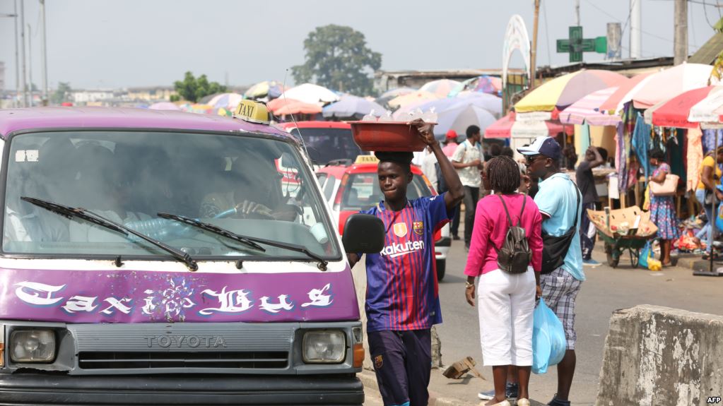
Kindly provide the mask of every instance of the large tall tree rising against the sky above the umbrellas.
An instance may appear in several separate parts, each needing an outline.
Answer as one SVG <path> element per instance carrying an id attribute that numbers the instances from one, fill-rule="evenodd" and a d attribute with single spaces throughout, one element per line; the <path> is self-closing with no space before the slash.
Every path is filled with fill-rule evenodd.
<path id="1" fill-rule="evenodd" d="M 382 54 L 367 48 L 364 34 L 351 27 L 317 27 L 304 40 L 306 62 L 291 68 L 296 83 L 315 82 L 357 95 L 373 92 L 370 71 L 382 66 Z"/>

